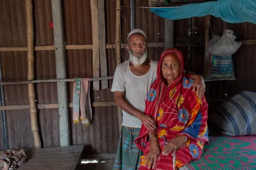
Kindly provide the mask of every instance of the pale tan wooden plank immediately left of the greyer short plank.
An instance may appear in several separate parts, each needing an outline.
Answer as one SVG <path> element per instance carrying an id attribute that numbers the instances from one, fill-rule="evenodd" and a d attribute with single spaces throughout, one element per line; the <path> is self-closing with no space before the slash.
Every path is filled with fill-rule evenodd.
<path id="1" fill-rule="evenodd" d="M 93 77 L 100 77 L 100 49 L 97 0 L 90 0 L 92 14 L 92 65 Z M 93 90 L 100 90 L 100 81 L 93 82 Z"/>

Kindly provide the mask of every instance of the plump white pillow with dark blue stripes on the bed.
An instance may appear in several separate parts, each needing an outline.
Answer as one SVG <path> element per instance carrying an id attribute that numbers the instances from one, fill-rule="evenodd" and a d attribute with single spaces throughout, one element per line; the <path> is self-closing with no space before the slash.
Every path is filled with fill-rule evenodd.
<path id="1" fill-rule="evenodd" d="M 221 133 L 256 135 L 256 92 L 243 91 L 217 106 L 219 112 L 209 115 Z"/>

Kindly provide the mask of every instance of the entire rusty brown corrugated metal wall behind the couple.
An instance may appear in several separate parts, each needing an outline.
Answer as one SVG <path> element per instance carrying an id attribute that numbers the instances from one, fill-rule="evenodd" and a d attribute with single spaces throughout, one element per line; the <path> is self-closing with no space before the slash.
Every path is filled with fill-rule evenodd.
<path id="1" fill-rule="evenodd" d="M 115 42 L 115 0 L 105 3 L 105 23 L 107 44 Z M 123 6 L 129 6 L 130 0 L 123 0 Z M 137 0 L 135 6 L 148 6 L 148 0 Z M 53 45 L 53 30 L 49 28 L 52 20 L 51 0 L 34 0 L 35 45 Z M 15 13 L 13 12 L 15 10 Z M 92 26 L 90 0 L 64 0 L 64 32 L 66 44 L 92 44 Z M 126 43 L 130 31 L 130 8 L 122 7 L 121 37 Z M 204 19 L 194 17 L 192 35 L 204 35 Z M 2 0 L 0 3 L 0 46 L 26 46 L 26 7 L 25 0 Z M 212 17 L 213 33 L 221 35 L 223 21 Z M 174 22 L 175 37 L 186 36 L 189 32 L 189 19 Z M 164 19 L 159 18 L 149 9 L 136 8 L 136 26 L 145 30 L 149 42 L 164 42 Z M 245 24 L 229 24 L 226 28 L 234 30 L 237 39 L 244 39 Z M 247 24 L 247 39 L 256 39 L 254 24 Z M 244 45 L 234 54 L 235 81 L 218 81 L 209 84 L 210 98 L 223 98 L 225 93 L 232 96 L 242 90 L 256 91 L 256 45 Z M 191 65 L 191 71 L 202 74 L 204 47 L 191 47 L 189 59 L 188 47 L 178 47 L 185 58 L 185 68 Z M 148 56 L 159 60 L 164 48 L 149 48 Z M 108 75 L 114 75 L 116 68 L 115 50 L 107 49 Z M 26 51 L 0 52 L 3 68 L 3 81 L 24 81 L 27 79 Z M 128 59 L 126 49 L 122 49 L 122 61 Z M 92 50 L 66 50 L 67 76 L 92 77 Z M 191 63 L 191 64 L 190 64 Z M 35 52 L 35 79 L 56 78 L 55 52 Z M 92 102 L 112 102 L 114 95 L 109 89 L 90 90 Z M 72 101 L 72 83 L 68 84 L 69 102 Z M 36 84 L 38 104 L 57 103 L 56 83 Z M 28 105 L 27 85 L 5 86 L 6 105 Z M 72 109 L 70 109 L 72 114 Z M 72 122 L 70 120 L 70 122 Z M 9 147 L 33 148 L 33 136 L 30 126 L 29 110 L 7 111 Z M 38 109 L 38 124 L 43 147 L 59 146 L 59 120 L 57 109 Z M 1 137 L 0 132 L 0 137 Z M 90 126 L 71 123 L 71 144 L 85 144 L 90 153 L 114 153 L 118 143 L 118 119 L 116 107 L 93 107 L 93 120 Z M 0 141 L 0 150 L 2 140 Z"/>

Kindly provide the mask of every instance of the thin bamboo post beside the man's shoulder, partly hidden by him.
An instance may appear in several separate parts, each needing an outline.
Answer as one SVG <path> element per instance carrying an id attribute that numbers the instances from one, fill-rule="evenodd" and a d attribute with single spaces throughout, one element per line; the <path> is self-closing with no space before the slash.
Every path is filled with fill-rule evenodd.
<path id="1" fill-rule="evenodd" d="M 116 66 L 121 63 L 121 36 L 120 36 L 120 25 L 121 25 L 121 0 L 116 0 Z M 117 106 L 119 134 L 121 134 L 122 127 L 122 109 Z"/>

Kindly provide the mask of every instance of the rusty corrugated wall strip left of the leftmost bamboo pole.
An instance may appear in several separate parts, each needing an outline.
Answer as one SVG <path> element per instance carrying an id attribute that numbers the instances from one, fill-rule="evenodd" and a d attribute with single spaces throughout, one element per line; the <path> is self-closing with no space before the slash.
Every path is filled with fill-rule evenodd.
<path id="1" fill-rule="evenodd" d="M 0 46 L 26 46 L 27 39 L 26 34 L 24 34 L 26 33 L 25 1 L 4 0 L 0 3 L 0 11 Z M 15 13 L 11 11 L 15 11 Z M 27 79 L 25 51 L 1 52 L 0 55 L 3 81 L 23 81 Z M 4 86 L 4 88 L 6 105 L 24 105 L 28 103 L 26 85 L 11 85 Z M 11 148 L 33 146 L 33 143 L 31 143 L 33 136 L 30 130 L 29 111 L 13 110 L 6 113 L 9 146 Z"/>

